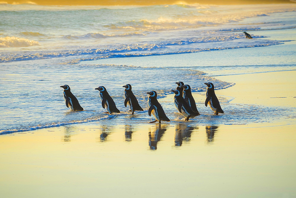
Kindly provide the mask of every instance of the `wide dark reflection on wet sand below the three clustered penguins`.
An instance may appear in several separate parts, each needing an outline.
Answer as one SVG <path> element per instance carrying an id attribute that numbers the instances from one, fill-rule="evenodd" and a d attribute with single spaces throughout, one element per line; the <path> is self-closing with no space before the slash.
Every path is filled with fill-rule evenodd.
<path id="1" fill-rule="evenodd" d="M 175 146 L 181 146 L 183 144 L 183 141 L 189 142 L 191 140 L 191 133 L 194 129 L 198 128 L 188 126 L 185 123 L 177 124 L 175 133 Z"/>

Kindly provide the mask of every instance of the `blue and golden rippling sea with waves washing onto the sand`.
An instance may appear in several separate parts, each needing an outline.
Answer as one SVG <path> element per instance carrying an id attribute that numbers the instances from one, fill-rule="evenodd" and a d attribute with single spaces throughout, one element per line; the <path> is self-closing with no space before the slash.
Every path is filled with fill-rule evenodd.
<path id="1" fill-rule="evenodd" d="M 155 90 L 161 98 L 171 93 L 178 81 L 189 84 L 192 91 L 202 92 L 206 89 L 204 83 L 209 81 L 216 89 L 234 85 L 220 81 L 219 75 L 296 69 L 295 4 L 247 7 L 1 4 L 0 10 L 0 16 L 6 19 L 0 39 L 0 133 L 114 117 L 104 114 L 99 93 L 94 90 L 98 86 L 107 88 L 121 111 L 118 120 L 124 122 L 128 109 L 123 105 L 122 86 L 127 83 L 133 86 L 140 105 L 147 110 L 147 91 Z M 98 20 L 101 16 L 112 17 Z M 17 25 L 12 26 L 17 20 Z M 243 31 L 249 32 L 253 39 L 246 39 Z M 59 87 L 65 84 L 71 87 L 85 111 L 67 109 Z M 229 104 L 231 98 L 225 96 L 220 100 L 229 112 L 225 115 L 227 121 L 256 122 L 237 118 L 235 104 Z M 163 107 L 171 120 L 183 119 L 170 102 Z M 225 123 L 209 121 L 203 105 L 198 108 L 203 112 L 205 124 Z M 265 107 L 262 111 L 252 105 L 243 108 L 249 112 L 259 109 L 260 113 L 250 113 L 248 117 L 260 117 L 266 122 L 278 116 L 288 119 L 287 113 L 294 111 L 268 107 L 279 112 L 270 118 L 264 113 Z M 133 122 L 146 120 L 147 112 L 143 112 Z"/>

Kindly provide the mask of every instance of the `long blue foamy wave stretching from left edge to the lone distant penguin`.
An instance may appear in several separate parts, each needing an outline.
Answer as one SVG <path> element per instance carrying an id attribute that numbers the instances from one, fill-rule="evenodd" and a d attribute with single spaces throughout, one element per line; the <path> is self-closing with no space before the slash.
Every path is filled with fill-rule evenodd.
<path id="1" fill-rule="evenodd" d="M 262 38 L 264 36 L 255 36 L 253 38 Z M 184 40 L 177 41 L 165 41 L 159 44 L 130 44 L 121 46 L 110 46 L 106 49 L 79 49 L 70 51 L 55 51 L 55 52 L 39 52 L 34 54 L 23 54 L 23 55 L 11 55 L 8 57 L 0 57 L 0 62 L 13 62 L 13 61 L 24 61 L 33 59 L 46 59 L 46 58 L 56 58 L 56 57 L 69 57 L 69 56 L 81 56 L 81 55 L 101 55 L 100 57 L 91 57 L 89 60 L 94 59 L 106 59 L 114 57 L 135 57 L 135 56 L 154 56 L 154 55 L 166 55 L 166 54 L 184 54 L 184 53 L 194 53 L 202 51 L 213 51 L 213 50 L 223 50 L 223 49 L 237 49 L 237 48 L 247 48 L 247 47 L 261 47 L 261 46 L 271 46 L 281 44 L 285 41 L 270 41 L 270 40 L 250 40 L 248 43 L 239 44 L 235 43 L 235 46 L 212 46 L 208 48 L 196 48 L 194 49 L 169 49 L 169 46 L 183 46 L 191 44 L 202 44 L 202 43 L 213 43 L 213 42 L 224 42 L 224 41 L 235 41 L 245 39 L 242 34 L 234 34 L 230 36 L 215 36 L 215 37 L 203 37 L 203 38 L 187 38 Z M 166 51 L 164 51 L 166 50 Z M 131 52 L 140 51 L 139 54 L 134 54 Z M 156 51 L 147 53 L 147 51 Z M 162 51 L 162 52 L 158 52 Z M 129 54 L 126 54 L 129 53 Z M 70 61 L 70 64 L 74 64 L 78 59 Z M 83 60 L 83 59 L 80 59 Z"/>

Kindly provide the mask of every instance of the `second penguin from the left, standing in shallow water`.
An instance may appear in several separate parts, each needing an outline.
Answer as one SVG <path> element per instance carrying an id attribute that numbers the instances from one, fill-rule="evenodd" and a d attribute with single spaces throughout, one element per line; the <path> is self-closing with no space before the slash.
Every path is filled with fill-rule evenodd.
<path id="1" fill-rule="evenodd" d="M 107 92 L 106 88 L 103 86 L 99 86 L 98 88 L 95 88 L 96 90 L 100 91 L 100 97 L 102 100 L 102 107 L 107 109 L 109 114 L 112 113 L 120 113 L 120 111 L 117 109 L 114 100 L 111 98 L 109 93 Z"/>

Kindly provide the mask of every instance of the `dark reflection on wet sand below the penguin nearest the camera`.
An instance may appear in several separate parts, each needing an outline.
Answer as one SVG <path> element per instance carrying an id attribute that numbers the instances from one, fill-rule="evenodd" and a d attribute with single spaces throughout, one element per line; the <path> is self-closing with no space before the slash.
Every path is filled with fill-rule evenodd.
<path id="1" fill-rule="evenodd" d="M 157 124 L 155 127 L 151 127 L 149 129 L 149 147 L 150 150 L 156 150 L 157 149 L 157 142 L 160 141 L 161 137 L 167 130 L 166 125 Z"/>

